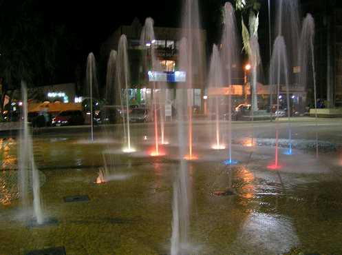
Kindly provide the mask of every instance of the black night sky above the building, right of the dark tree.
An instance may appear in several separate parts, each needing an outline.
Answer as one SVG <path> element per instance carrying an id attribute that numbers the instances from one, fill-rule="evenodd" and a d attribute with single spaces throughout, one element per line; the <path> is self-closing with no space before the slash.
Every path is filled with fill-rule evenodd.
<path id="1" fill-rule="evenodd" d="M 202 0 L 204 26 L 215 24 L 217 8 L 224 1 Z M 54 23 L 64 23 L 85 43 L 85 50 L 97 52 L 100 43 L 120 25 L 129 25 L 134 17 L 143 23 L 152 17 L 156 26 L 179 27 L 182 1 L 41 1 L 41 10 Z M 215 29 L 215 28 L 214 28 Z M 211 37 L 212 35 L 209 34 Z"/>

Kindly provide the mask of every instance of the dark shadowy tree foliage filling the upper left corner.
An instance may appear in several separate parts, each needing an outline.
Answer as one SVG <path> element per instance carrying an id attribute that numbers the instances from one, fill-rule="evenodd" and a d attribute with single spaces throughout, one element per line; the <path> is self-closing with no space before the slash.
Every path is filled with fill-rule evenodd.
<path id="1" fill-rule="evenodd" d="M 63 23 L 49 20 L 39 1 L 1 1 L 0 10 L 0 76 L 8 88 L 19 88 L 22 79 L 32 87 L 74 76 L 69 53 L 78 43 Z"/>

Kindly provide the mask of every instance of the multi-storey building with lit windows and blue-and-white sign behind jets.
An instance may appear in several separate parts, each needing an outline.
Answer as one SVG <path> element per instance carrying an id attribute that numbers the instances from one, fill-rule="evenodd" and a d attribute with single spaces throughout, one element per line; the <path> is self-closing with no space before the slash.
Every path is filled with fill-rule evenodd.
<path id="1" fill-rule="evenodd" d="M 140 45 L 140 34 L 142 32 L 142 24 L 138 19 L 134 19 L 131 26 L 120 26 L 114 33 L 103 43 L 100 49 L 100 59 L 107 61 L 111 50 L 118 50 L 118 41 L 122 34 L 127 37 L 129 47 L 129 63 L 131 68 L 131 89 L 129 96 L 131 100 L 137 101 L 139 104 L 149 103 L 151 100 L 151 88 L 153 81 L 162 81 L 166 83 L 167 100 L 173 101 L 176 94 L 176 85 L 185 82 L 186 74 L 179 70 L 179 47 L 182 29 L 180 28 L 162 28 L 154 27 L 156 41 L 156 55 L 160 65 L 161 72 L 156 70 L 144 70 L 142 68 L 142 50 L 144 45 Z M 203 39 L 203 47 L 206 49 L 206 31 L 200 30 Z M 203 58 L 206 63 L 206 50 L 204 50 Z M 206 66 L 204 66 L 204 71 Z M 202 107 L 202 97 L 204 95 L 204 87 L 206 83 L 206 74 L 202 75 L 202 79 L 198 79 L 193 83 L 193 105 Z"/>

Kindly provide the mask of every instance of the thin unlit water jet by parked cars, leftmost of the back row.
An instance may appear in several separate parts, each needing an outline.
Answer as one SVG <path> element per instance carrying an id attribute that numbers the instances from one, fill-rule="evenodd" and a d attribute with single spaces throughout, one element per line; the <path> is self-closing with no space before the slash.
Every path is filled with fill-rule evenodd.
<path id="1" fill-rule="evenodd" d="M 87 70 L 86 70 L 86 94 L 90 99 L 90 125 L 91 125 L 91 139 L 94 141 L 94 96 L 98 96 L 98 82 L 96 76 L 96 61 L 94 54 L 91 52 L 87 57 Z"/>

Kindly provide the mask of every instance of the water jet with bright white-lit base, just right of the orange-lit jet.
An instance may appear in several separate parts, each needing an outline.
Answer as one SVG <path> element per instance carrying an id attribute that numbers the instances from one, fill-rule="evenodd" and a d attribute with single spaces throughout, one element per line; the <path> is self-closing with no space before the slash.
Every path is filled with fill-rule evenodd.
<path id="1" fill-rule="evenodd" d="M 220 59 L 220 53 L 217 49 L 217 45 L 213 45 L 213 54 L 211 56 L 211 63 L 209 69 L 209 90 L 215 90 L 217 88 L 222 88 L 222 62 Z M 215 150 L 225 149 L 222 143 L 222 136 L 220 133 L 220 96 L 215 95 L 213 98 L 209 99 L 209 111 L 215 112 L 215 143 L 213 143 L 212 148 Z"/>

